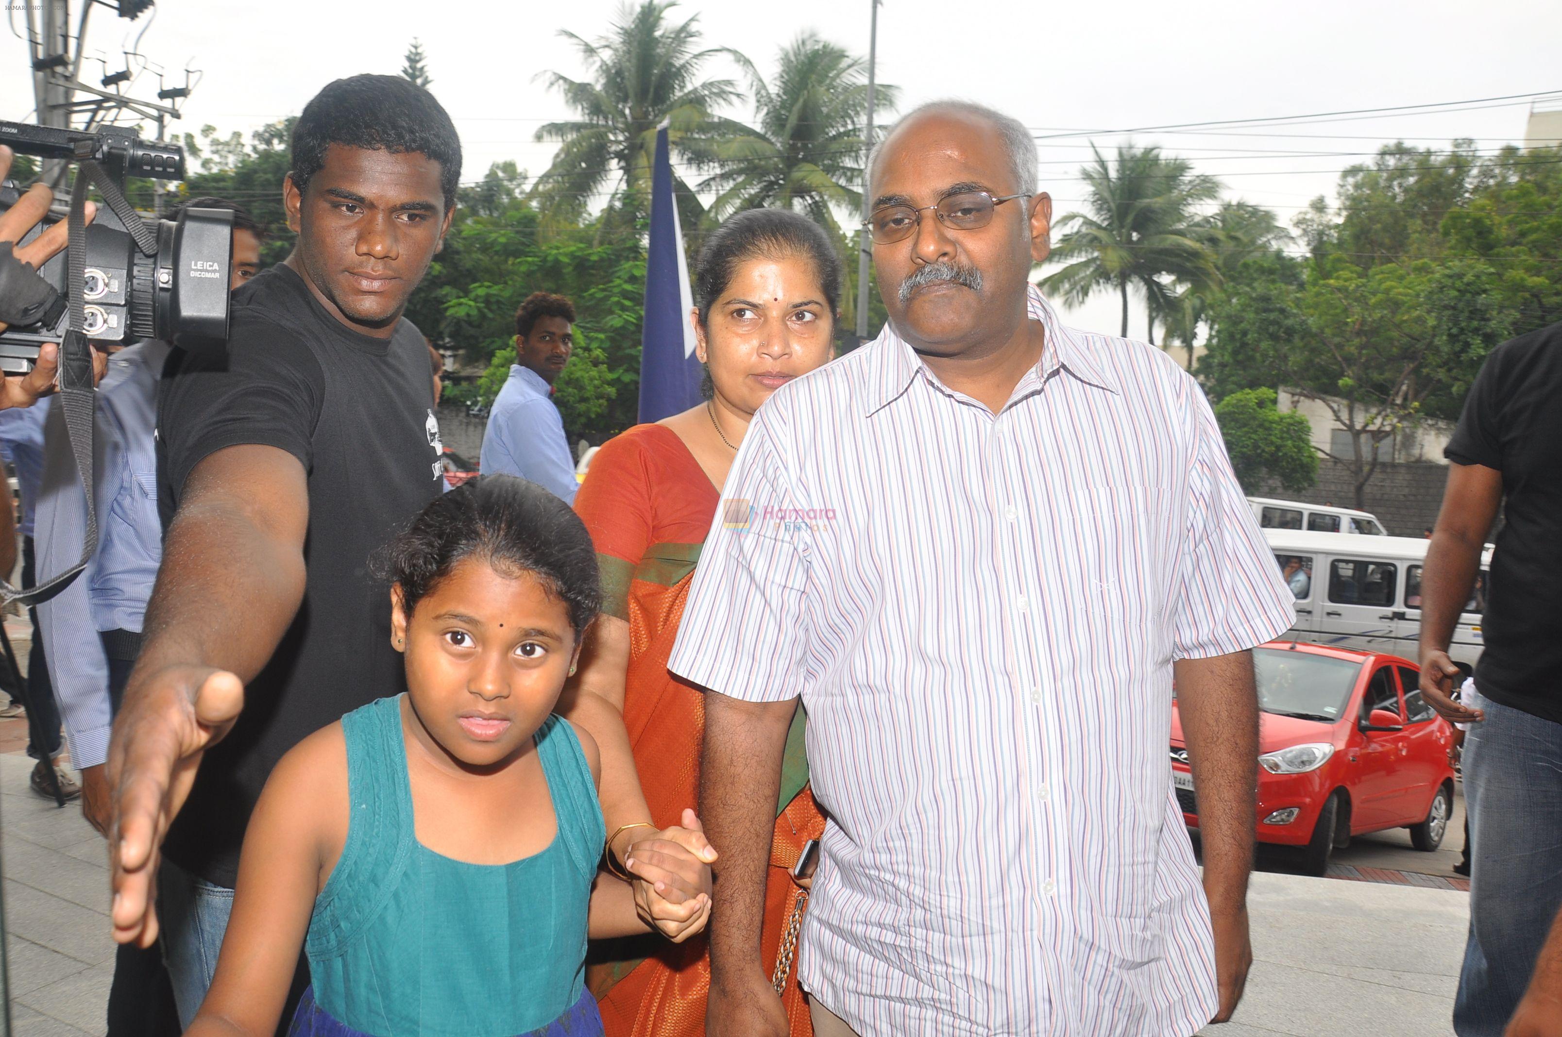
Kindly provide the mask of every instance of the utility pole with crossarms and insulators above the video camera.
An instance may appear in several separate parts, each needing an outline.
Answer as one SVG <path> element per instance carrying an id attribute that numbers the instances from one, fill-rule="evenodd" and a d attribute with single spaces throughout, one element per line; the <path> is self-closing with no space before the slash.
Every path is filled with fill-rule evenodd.
<path id="1" fill-rule="evenodd" d="M 148 122 L 156 122 L 161 141 L 166 120 L 178 119 L 178 102 L 189 97 L 191 72 L 189 69 L 184 72 L 184 86 L 169 89 L 161 89 L 162 77 L 158 73 L 158 100 L 173 102 L 173 105 L 142 102 L 119 92 L 119 84 L 131 78 L 130 53 L 125 55 L 125 70 L 105 75 L 102 87 L 83 83 L 81 61 L 86 55 L 87 17 L 100 2 L 83 0 L 75 36 L 70 34 L 70 0 L 34 0 L 19 5 L 27 9 L 27 42 L 33 59 L 33 98 L 37 125 L 59 130 L 95 130 L 98 125 L 114 123 L 123 112 L 131 112 Z M 112 8 L 114 5 L 105 6 Z M 136 20 L 150 6 L 152 0 L 119 0 L 117 3 L 119 16 L 130 20 Z M 139 59 L 139 55 L 136 58 Z M 106 64 L 105 72 L 108 72 Z M 86 95 L 86 98 L 77 100 L 78 95 Z M 66 186 L 67 169 L 69 162 L 45 159 L 44 183 L 58 192 Z M 161 180 L 153 181 L 159 194 L 161 183 Z"/>

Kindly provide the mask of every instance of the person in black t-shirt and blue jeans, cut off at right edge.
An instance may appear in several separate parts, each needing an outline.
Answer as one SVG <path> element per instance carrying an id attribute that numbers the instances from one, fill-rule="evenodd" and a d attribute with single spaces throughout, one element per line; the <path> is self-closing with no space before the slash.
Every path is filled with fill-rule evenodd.
<path id="1" fill-rule="evenodd" d="M 1492 350 L 1445 454 L 1448 487 L 1421 578 L 1421 693 L 1464 748 L 1470 939 L 1454 1029 L 1496 1037 L 1562 906 L 1562 323 Z M 1448 639 L 1498 506 L 1473 687 Z"/>

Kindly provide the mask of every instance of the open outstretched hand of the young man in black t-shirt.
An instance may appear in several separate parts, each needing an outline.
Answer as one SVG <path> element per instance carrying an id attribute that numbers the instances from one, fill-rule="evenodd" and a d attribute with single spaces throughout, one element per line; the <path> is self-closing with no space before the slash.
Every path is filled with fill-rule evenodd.
<path id="1" fill-rule="evenodd" d="M 139 678 L 139 679 L 137 679 Z M 233 728 L 244 684 L 225 670 L 167 667 L 134 675 L 108 747 L 108 845 L 114 940 L 152 946 L 159 848 L 184 806 L 201 753 Z"/>

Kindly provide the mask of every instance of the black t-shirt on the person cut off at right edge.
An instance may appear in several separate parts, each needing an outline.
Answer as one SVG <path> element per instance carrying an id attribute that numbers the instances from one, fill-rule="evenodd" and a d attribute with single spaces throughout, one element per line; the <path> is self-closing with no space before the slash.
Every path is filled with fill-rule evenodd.
<path id="1" fill-rule="evenodd" d="M 1562 722 L 1562 323 L 1492 350 L 1443 453 L 1503 473 L 1476 687 Z"/>

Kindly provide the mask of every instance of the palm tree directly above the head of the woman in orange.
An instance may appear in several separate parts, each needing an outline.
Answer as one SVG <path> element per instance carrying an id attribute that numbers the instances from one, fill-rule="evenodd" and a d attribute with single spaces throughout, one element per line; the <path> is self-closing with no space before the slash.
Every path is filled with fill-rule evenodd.
<path id="1" fill-rule="evenodd" d="M 867 61 L 804 31 L 781 48 L 773 80 L 750 69 L 750 81 L 754 125 L 715 144 L 719 169 L 700 184 L 717 192 L 708 219 L 762 206 L 800 209 L 839 234 L 836 214 L 862 205 L 853 184 L 862 183 L 867 151 Z M 879 84 L 875 103 L 893 109 L 897 94 Z"/>

